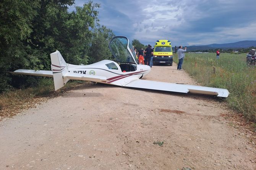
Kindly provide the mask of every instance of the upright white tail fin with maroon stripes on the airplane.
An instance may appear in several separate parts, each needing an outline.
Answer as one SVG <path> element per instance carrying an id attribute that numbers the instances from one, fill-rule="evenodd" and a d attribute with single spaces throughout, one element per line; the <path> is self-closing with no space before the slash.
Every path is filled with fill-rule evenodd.
<path id="1" fill-rule="evenodd" d="M 68 78 L 63 78 L 63 76 L 68 72 L 68 65 L 58 50 L 51 53 L 50 56 L 52 62 L 51 68 L 53 73 L 54 88 L 55 91 L 57 91 L 69 80 Z"/>

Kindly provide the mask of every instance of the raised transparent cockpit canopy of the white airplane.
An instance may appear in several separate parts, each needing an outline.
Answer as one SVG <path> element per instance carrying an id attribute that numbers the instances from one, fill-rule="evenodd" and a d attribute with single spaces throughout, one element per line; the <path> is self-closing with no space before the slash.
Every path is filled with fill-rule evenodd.
<path id="1" fill-rule="evenodd" d="M 133 46 L 126 37 L 112 38 L 109 42 L 109 49 L 118 62 L 137 64 Z"/>

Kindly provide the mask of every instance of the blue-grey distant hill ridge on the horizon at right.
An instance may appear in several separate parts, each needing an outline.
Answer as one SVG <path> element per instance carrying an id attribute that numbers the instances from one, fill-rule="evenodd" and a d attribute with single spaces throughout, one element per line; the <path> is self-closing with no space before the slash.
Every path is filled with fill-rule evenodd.
<path id="1" fill-rule="evenodd" d="M 207 50 L 207 49 L 237 49 L 237 48 L 249 48 L 251 46 L 256 47 L 256 41 L 238 41 L 235 43 L 225 43 L 225 44 L 208 44 L 201 46 L 188 46 L 189 51 L 195 50 Z"/>

